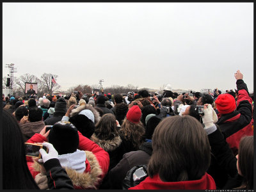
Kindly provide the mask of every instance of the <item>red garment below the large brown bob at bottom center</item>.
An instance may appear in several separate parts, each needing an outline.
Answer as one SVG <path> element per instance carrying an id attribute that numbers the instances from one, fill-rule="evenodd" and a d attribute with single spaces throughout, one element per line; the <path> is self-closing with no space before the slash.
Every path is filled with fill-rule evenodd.
<path id="1" fill-rule="evenodd" d="M 147 177 L 138 186 L 129 189 L 216 189 L 216 185 L 211 175 L 205 175 L 199 180 L 185 180 L 179 182 L 163 182 L 159 175 L 153 178 Z"/>

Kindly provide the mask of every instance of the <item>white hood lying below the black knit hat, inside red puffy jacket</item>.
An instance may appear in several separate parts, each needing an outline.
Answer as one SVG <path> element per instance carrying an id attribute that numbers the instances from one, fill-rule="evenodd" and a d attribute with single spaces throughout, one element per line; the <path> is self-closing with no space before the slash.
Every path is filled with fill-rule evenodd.
<path id="1" fill-rule="evenodd" d="M 84 151 L 77 149 L 72 154 L 59 155 L 58 159 L 61 166 L 65 166 L 72 170 L 76 170 L 78 173 L 83 173 L 85 170 L 86 154 Z"/>

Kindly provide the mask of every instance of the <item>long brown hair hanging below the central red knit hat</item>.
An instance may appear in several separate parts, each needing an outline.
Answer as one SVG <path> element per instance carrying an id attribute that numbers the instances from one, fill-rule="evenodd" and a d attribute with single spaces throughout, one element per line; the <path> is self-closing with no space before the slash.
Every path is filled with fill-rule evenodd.
<path id="1" fill-rule="evenodd" d="M 122 136 L 125 140 L 129 140 L 132 142 L 132 145 L 135 148 L 139 148 L 143 143 L 143 135 L 145 134 L 145 128 L 143 124 L 139 122 L 138 124 L 134 124 L 124 119 L 124 122 L 119 130 L 120 136 Z"/>

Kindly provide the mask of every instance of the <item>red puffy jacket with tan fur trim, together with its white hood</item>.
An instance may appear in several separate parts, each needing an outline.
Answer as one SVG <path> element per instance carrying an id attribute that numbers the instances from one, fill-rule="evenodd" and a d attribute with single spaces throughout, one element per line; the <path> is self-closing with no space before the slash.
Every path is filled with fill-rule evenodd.
<path id="1" fill-rule="evenodd" d="M 108 172 L 109 155 L 99 145 L 84 137 L 79 131 L 78 134 L 79 150 L 72 154 L 59 156 L 61 166 L 65 168 L 75 189 L 97 189 L 101 180 Z M 35 134 L 27 142 L 42 143 L 44 141 L 47 141 L 47 138 L 41 134 Z M 39 164 L 33 162 L 33 159 L 30 157 L 27 157 L 27 162 L 33 178 L 42 182 L 45 173 L 40 170 Z"/>

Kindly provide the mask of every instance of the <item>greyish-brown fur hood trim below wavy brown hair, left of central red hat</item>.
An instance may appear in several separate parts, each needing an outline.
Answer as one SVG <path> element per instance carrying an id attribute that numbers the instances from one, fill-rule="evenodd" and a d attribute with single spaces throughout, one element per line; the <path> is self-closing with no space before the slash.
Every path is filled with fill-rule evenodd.
<path id="1" fill-rule="evenodd" d="M 106 150 L 106 152 L 111 152 L 111 151 L 115 150 L 122 143 L 120 136 L 116 136 L 112 140 L 100 140 L 99 138 L 97 138 L 97 136 L 94 133 L 92 134 L 90 140 L 97 143 L 97 145 L 99 145 L 99 147 Z"/>

